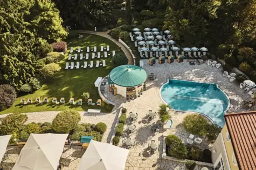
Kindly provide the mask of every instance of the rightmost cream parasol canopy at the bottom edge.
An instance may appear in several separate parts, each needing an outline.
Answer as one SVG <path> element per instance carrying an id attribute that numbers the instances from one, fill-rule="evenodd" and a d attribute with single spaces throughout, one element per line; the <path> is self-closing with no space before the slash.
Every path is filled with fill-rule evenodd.
<path id="1" fill-rule="evenodd" d="M 129 150 L 91 140 L 78 170 L 123 170 Z"/>

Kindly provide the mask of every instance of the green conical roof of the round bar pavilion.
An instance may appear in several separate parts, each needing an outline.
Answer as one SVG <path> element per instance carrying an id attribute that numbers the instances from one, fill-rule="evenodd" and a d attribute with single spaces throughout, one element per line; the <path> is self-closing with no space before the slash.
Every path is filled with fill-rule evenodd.
<path id="1" fill-rule="evenodd" d="M 109 73 L 109 78 L 116 85 L 134 87 L 146 81 L 147 73 L 136 65 L 120 65 Z"/>

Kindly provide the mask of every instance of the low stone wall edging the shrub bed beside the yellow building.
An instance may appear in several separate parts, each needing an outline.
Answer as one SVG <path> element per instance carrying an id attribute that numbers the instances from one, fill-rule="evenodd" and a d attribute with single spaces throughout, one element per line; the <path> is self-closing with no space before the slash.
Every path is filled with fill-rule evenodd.
<path id="1" fill-rule="evenodd" d="M 172 160 L 172 161 L 177 161 L 177 162 L 187 162 L 189 161 L 189 159 L 177 159 L 177 158 L 174 158 L 174 157 L 168 157 L 168 156 L 165 156 L 167 155 L 166 153 L 166 143 L 165 143 L 165 138 L 166 136 L 163 136 L 163 154 L 162 154 L 162 159 L 164 160 Z M 200 162 L 200 161 L 195 161 L 196 165 L 199 165 L 199 166 L 206 166 L 206 167 L 210 167 L 210 168 L 213 168 L 213 164 L 210 164 L 210 163 L 207 163 L 207 162 Z"/>

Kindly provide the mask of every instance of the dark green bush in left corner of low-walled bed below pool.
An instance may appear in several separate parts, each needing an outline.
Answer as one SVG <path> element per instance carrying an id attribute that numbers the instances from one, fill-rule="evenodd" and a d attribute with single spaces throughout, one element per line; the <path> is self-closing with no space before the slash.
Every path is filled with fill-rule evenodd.
<path id="1" fill-rule="evenodd" d="M 168 135 L 165 138 L 165 143 L 168 146 L 167 156 L 185 159 L 188 151 L 186 150 L 186 146 L 182 143 L 181 139 L 175 135 Z"/>

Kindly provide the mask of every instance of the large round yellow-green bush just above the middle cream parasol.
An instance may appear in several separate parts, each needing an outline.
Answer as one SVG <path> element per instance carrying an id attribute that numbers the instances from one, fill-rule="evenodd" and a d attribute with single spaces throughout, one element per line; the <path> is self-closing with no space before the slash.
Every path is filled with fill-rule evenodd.
<path id="1" fill-rule="evenodd" d="M 68 133 L 77 127 L 81 116 L 77 111 L 64 110 L 53 119 L 52 128 L 60 133 Z"/>

